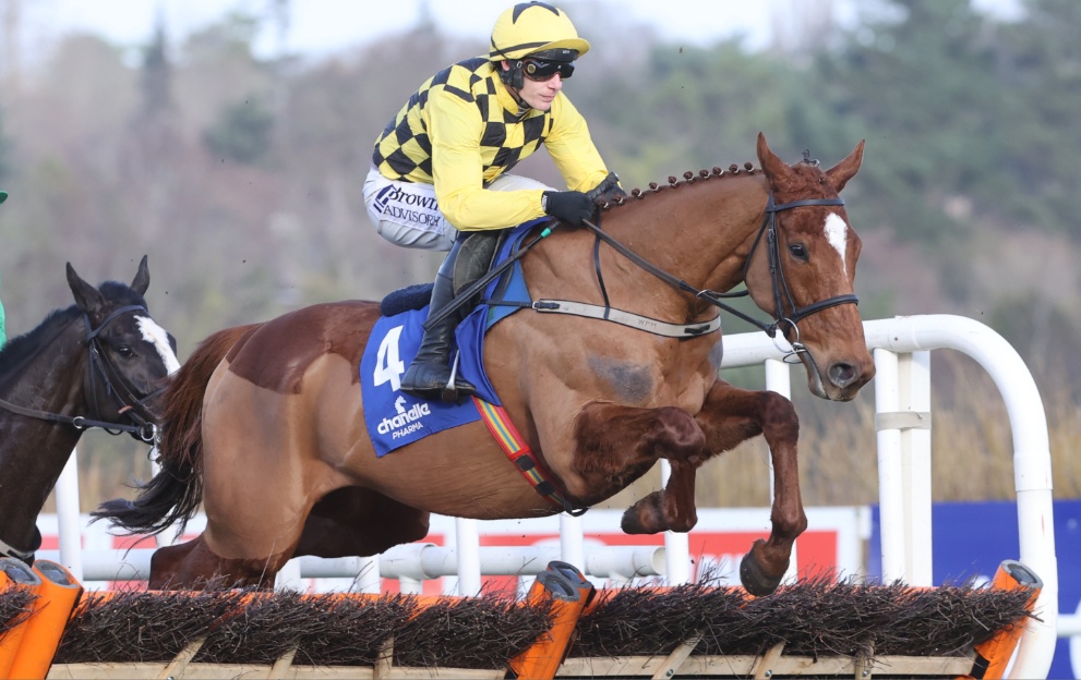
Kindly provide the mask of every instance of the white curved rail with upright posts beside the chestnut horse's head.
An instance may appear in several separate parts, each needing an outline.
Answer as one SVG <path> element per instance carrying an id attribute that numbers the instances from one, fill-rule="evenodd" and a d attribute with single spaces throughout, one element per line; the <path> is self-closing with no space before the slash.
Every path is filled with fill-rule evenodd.
<path id="1" fill-rule="evenodd" d="M 1052 506 L 1050 445 L 1040 391 L 1021 356 L 993 329 L 949 314 L 864 323 L 875 354 L 882 580 L 932 585 L 930 374 L 932 350 L 956 350 L 976 361 L 1006 403 L 1013 435 L 1019 560 L 1043 581 L 1011 678 L 1045 678 L 1058 624 L 1058 559 Z M 781 352 L 761 333 L 724 339 L 722 366 L 750 366 Z M 1008 559 L 1011 556 L 1002 556 Z"/>

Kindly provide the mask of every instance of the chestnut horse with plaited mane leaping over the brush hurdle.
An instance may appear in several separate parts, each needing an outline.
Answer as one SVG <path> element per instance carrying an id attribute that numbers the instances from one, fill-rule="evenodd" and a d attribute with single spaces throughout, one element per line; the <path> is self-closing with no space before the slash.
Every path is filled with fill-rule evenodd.
<path id="1" fill-rule="evenodd" d="M 614 308 L 672 336 L 584 316 L 519 312 L 488 333 L 483 363 L 520 436 L 576 508 L 668 459 L 663 490 L 623 518 L 628 533 L 689 531 L 695 474 L 764 435 L 774 471 L 772 531 L 741 579 L 772 592 L 807 520 L 791 402 L 719 379 L 721 291 L 746 282 L 804 363 L 810 390 L 845 401 L 874 375 L 853 292 L 860 239 L 845 183 L 863 143 L 829 170 L 784 163 L 758 137 L 761 171 L 714 168 L 603 206 L 603 231 L 561 229 L 521 259 L 533 300 Z M 644 259 L 642 259 L 644 258 Z M 603 281 L 603 283 L 601 282 Z M 291 557 L 374 555 L 423 538 L 430 512 L 481 520 L 554 514 L 481 423 L 383 458 L 369 439 L 358 366 L 380 306 L 339 302 L 211 336 L 167 398 L 161 472 L 99 517 L 133 532 L 190 519 L 206 531 L 159 548 L 151 587 L 215 574 L 269 581 Z"/>

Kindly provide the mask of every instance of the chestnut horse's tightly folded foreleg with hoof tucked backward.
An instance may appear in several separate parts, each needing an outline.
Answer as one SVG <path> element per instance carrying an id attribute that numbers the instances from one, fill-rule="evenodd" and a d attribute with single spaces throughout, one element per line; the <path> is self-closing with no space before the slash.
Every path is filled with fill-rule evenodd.
<path id="1" fill-rule="evenodd" d="M 623 531 L 687 532 L 698 522 L 695 470 L 705 460 L 706 438 L 686 411 L 591 403 L 579 414 L 575 433 L 576 472 L 587 479 L 600 477 L 596 481 L 599 487 L 610 488 L 616 481 L 623 488 L 661 458 L 672 465 L 664 489 L 646 496 L 623 514 Z"/>

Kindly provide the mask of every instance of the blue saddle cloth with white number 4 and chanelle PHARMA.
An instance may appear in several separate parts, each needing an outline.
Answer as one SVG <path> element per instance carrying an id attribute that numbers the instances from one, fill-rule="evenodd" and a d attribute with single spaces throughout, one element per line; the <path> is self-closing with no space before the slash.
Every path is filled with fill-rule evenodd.
<path id="1" fill-rule="evenodd" d="M 504 241 L 497 262 L 506 259 L 521 239 L 541 221 L 543 220 L 515 228 Z M 521 267 L 516 263 L 502 277 L 488 284 L 481 303 L 455 331 L 459 350 L 458 374 L 477 386 L 477 397 L 489 403 L 502 405 L 484 371 L 484 335 L 501 319 L 529 304 L 529 291 Z M 480 413 L 471 399 L 463 404 L 448 404 L 413 397 L 400 390 L 401 376 L 420 348 L 428 313 L 429 308 L 425 306 L 422 309 L 380 317 L 364 347 L 364 355 L 360 362 L 361 398 L 364 402 L 368 436 L 375 446 L 376 456 L 385 456 L 429 435 L 480 420 Z M 452 348 L 452 361 L 454 350 Z"/>

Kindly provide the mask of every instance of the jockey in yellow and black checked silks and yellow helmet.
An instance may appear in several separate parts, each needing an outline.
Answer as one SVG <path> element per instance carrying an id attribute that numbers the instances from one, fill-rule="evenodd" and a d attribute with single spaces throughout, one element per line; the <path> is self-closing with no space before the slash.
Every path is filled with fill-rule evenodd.
<path id="1" fill-rule="evenodd" d="M 585 119 L 561 92 L 587 51 L 562 10 L 516 4 L 495 22 L 487 56 L 424 82 L 375 142 L 364 202 L 376 231 L 397 245 L 449 251 L 430 315 L 484 274 L 502 230 L 545 215 L 580 227 L 596 210 L 587 192 L 622 194 Z M 542 144 L 569 191 L 508 174 Z M 424 333 L 403 391 L 437 398 L 448 387 L 460 318 L 452 314 Z M 458 398 L 475 391 L 461 378 L 449 389 Z"/>

